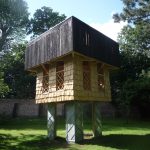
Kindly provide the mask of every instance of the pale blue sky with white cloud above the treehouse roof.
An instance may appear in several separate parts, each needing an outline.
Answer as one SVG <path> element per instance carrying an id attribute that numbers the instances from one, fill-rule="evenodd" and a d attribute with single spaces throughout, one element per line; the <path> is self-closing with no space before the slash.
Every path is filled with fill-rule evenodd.
<path id="1" fill-rule="evenodd" d="M 112 19 L 114 13 L 123 9 L 121 0 L 26 0 L 26 2 L 31 16 L 42 6 L 51 7 L 53 11 L 65 14 L 67 18 L 77 17 L 115 41 L 126 24 L 114 23 Z"/>

